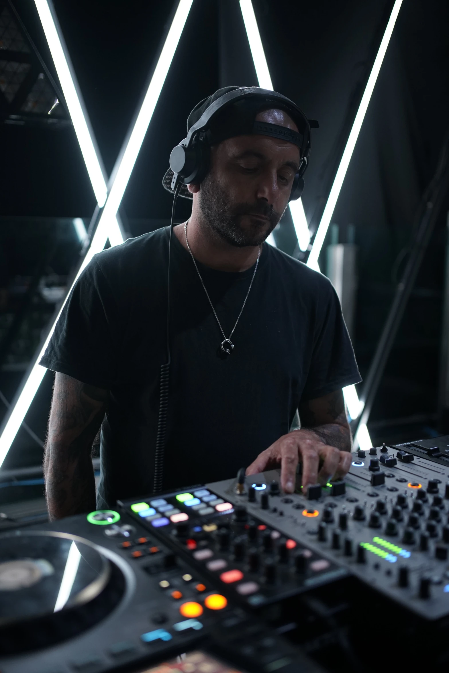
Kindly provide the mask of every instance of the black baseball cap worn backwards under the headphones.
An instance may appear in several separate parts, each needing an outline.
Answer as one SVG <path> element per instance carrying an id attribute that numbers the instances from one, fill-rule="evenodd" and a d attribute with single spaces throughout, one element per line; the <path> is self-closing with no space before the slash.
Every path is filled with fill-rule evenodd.
<path id="1" fill-rule="evenodd" d="M 187 133 L 197 123 L 211 104 L 221 98 L 221 96 L 240 88 L 242 87 L 223 87 L 216 91 L 215 94 L 212 94 L 212 96 L 208 96 L 201 100 L 188 115 Z M 255 88 L 256 87 L 252 87 L 253 90 Z M 295 122 L 298 132 L 293 131 L 292 129 L 287 129 L 287 127 L 255 121 L 256 115 L 259 112 L 271 109 L 284 110 L 284 112 L 287 112 L 293 122 Z M 201 137 L 209 147 L 212 147 L 213 145 L 221 143 L 223 140 L 234 138 L 238 135 L 268 135 L 297 145 L 300 148 L 301 155 L 304 155 L 306 144 L 310 142 L 310 128 L 318 128 L 318 122 L 312 119 L 308 120 L 304 115 L 304 112 L 302 112 L 296 104 L 289 101 L 287 98 L 284 98 L 282 102 L 279 102 L 279 98 L 270 98 L 265 90 L 261 90 L 260 98 L 244 98 L 226 106 L 223 110 L 219 110 L 213 118 L 211 118 L 209 127 L 201 133 Z M 173 194 L 172 178 L 173 171 L 169 168 L 164 175 L 162 184 L 168 192 Z M 193 195 L 188 191 L 186 184 L 182 184 L 179 195 L 185 199 L 193 199 Z"/>

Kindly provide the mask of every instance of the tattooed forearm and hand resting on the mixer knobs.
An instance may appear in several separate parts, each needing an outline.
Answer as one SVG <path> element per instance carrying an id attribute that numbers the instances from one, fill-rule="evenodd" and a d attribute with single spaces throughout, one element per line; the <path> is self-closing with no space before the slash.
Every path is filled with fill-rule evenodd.
<path id="1" fill-rule="evenodd" d="M 296 466 L 302 460 L 302 486 L 344 476 L 351 465 L 352 437 L 345 414 L 343 392 L 308 400 L 299 408 L 301 429 L 279 437 L 246 470 L 258 474 L 281 465 L 281 485 L 295 488 Z M 320 462 L 322 466 L 320 467 Z"/>

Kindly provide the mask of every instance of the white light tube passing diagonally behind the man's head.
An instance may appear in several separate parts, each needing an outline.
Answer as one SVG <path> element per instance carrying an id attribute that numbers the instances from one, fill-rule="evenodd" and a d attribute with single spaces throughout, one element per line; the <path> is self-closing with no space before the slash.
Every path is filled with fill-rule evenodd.
<path id="1" fill-rule="evenodd" d="M 263 50 L 261 34 L 258 32 L 256 16 L 254 15 L 254 8 L 251 0 L 240 0 L 240 9 L 242 10 L 243 22 L 245 24 L 246 35 L 250 44 L 252 61 L 254 61 L 254 68 L 256 69 L 258 85 L 262 89 L 269 89 L 273 91 L 273 83 L 271 82 L 270 72 Z M 304 213 L 304 206 L 302 200 L 291 201 L 289 203 L 291 219 L 293 227 L 295 228 L 296 238 L 298 238 L 298 245 L 300 250 L 305 252 L 310 243 L 310 233 L 307 225 L 306 214 Z M 273 237 L 271 237 L 273 240 Z M 271 243 L 272 240 L 269 242 Z M 274 242 L 274 240 L 273 240 Z"/>

